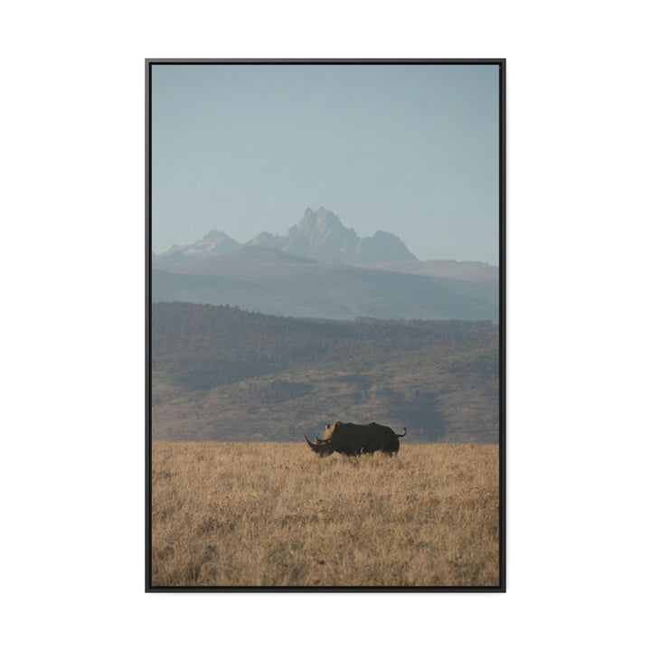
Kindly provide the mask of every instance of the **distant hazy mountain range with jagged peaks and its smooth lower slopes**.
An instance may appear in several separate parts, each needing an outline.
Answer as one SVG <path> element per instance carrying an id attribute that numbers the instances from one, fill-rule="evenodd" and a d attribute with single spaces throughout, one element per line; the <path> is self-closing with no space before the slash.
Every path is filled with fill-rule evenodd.
<path id="1" fill-rule="evenodd" d="M 152 300 L 233 305 L 276 316 L 497 321 L 498 269 L 417 259 L 400 238 L 359 238 L 325 208 L 286 235 L 241 245 L 221 231 L 153 256 Z"/>

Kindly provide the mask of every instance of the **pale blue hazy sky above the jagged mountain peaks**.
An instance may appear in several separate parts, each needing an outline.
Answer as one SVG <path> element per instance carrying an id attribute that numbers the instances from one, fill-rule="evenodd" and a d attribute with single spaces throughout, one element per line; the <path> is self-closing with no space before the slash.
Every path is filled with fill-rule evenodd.
<path id="1" fill-rule="evenodd" d="M 497 65 L 155 65 L 156 253 L 307 207 L 420 259 L 498 262 Z"/>

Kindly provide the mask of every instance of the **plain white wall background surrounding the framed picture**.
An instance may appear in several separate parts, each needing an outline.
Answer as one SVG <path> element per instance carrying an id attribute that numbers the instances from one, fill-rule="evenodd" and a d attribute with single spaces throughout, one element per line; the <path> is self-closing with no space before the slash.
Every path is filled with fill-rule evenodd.
<path id="1" fill-rule="evenodd" d="M 6 648 L 648 647 L 642 2 L 3 14 Z M 181 56 L 507 58 L 505 595 L 144 593 L 144 60 Z"/>

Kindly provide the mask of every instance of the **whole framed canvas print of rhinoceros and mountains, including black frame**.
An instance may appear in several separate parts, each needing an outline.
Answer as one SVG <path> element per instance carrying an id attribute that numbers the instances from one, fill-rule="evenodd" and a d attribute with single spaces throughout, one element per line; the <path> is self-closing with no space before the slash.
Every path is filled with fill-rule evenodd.
<path id="1" fill-rule="evenodd" d="M 505 591 L 505 60 L 146 61 L 146 590 Z"/>

